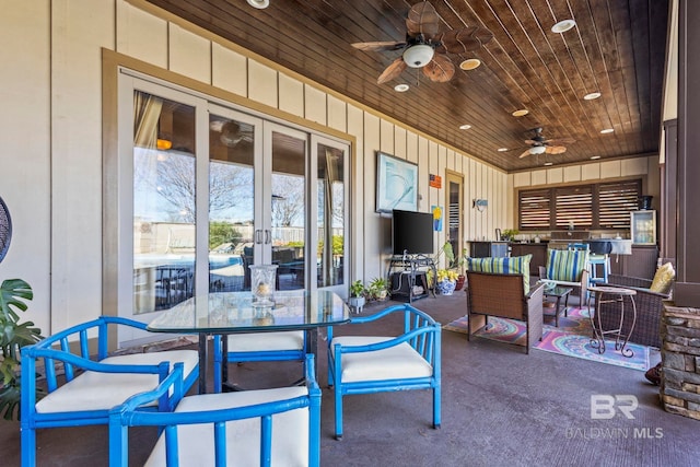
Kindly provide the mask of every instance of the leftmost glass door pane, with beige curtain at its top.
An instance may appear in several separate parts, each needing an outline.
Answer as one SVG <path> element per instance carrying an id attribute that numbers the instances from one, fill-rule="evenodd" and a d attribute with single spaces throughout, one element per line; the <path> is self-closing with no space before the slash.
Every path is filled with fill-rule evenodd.
<path id="1" fill-rule="evenodd" d="M 133 314 L 195 283 L 195 107 L 133 92 Z"/>

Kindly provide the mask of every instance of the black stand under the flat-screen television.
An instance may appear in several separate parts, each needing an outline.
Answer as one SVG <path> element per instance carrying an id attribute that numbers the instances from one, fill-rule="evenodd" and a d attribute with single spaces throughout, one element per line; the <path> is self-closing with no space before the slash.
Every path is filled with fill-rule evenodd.
<path id="1" fill-rule="evenodd" d="M 432 284 L 428 284 L 428 271 L 432 271 Z M 406 299 L 408 303 L 424 299 L 430 292 L 435 296 L 438 270 L 433 258 L 425 255 L 394 255 L 387 272 L 389 293 L 395 300 Z"/>

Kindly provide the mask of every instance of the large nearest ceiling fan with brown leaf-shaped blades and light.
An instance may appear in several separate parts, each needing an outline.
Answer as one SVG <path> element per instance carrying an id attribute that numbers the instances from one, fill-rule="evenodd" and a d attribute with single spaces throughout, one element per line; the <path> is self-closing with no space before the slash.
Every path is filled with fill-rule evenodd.
<path id="1" fill-rule="evenodd" d="M 376 80 L 383 84 L 397 78 L 406 68 L 421 68 L 431 81 L 446 82 L 455 74 L 455 66 L 445 54 L 476 50 L 493 38 L 489 30 L 462 27 L 440 33 L 440 16 L 427 1 L 411 7 L 406 19 L 406 40 L 355 43 L 360 50 L 400 50 L 404 52 Z"/>

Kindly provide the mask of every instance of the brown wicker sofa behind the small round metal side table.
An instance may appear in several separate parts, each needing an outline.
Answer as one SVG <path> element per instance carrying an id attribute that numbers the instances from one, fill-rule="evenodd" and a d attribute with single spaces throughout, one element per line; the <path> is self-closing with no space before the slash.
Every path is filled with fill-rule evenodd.
<path id="1" fill-rule="evenodd" d="M 630 336 L 630 342 L 641 343 L 661 348 L 661 313 L 662 302 L 670 299 L 670 293 L 657 293 L 649 290 L 652 281 L 650 279 L 634 278 L 629 276 L 609 275 L 606 285 L 623 287 L 637 291 L 634 305 L 637 306 L 637 323 Z M 631 320 L 627 317 L 622 325 L 622 332 L 628 334 Z M 604 330 L 615 329 L 620 322 L 620 304 L 603 303 L 600 305 L 600 323 Z"/>

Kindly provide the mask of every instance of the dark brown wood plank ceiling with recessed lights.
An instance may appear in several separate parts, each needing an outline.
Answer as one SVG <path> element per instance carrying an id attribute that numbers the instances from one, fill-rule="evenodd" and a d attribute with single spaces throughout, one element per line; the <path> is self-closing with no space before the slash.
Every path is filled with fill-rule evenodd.
<path id="1" fill-rule="evenodd" d="M 658 153 L 667 0 L 432 0 L 441 32 L 481 26 L 493 39 L 447 54 L 457 67 L 448 82 L 408 69 L 381 85 L 401 50 L 350 44 L 405 40 L 417 1 L 148 1 L 508 172 Z M 567 19 L 576 26 L 551 31 Z M 481 65 L 458 68 L 471 58 Z M 410 89 L 394 91 L 401 83 Z M 537 127 L 575 141 L 562 154 L 518 157 Z"/>

